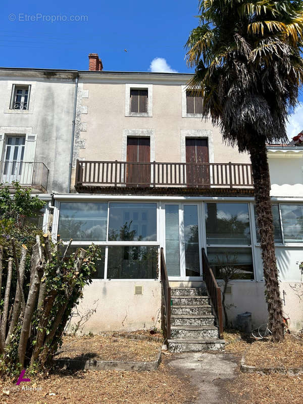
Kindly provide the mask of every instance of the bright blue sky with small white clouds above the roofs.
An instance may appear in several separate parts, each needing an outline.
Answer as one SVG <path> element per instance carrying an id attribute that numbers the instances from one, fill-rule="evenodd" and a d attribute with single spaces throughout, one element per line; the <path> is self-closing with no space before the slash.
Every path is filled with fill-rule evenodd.
<path id="1" fill-rule="evenodd" d="M 190 73 L 183 45 L 197 25 L 197 3 L 5 2 L 0 16 L 0 66 L 87 70 L 87 55 L 98 53 L 104 70 Z M 302 94 L 300 102 L 290 119 L 289 136 L 303 129 Z"/>

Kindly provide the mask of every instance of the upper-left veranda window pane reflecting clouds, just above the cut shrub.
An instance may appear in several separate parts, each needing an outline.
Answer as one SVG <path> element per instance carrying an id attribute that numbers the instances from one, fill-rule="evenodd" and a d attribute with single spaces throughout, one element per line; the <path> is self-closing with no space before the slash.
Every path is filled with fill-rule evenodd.
<path id="1" fill-rule="evenodd" d="M 107 203 L 60 204 L 58 233 L 62 240 L 106 241 Z"/>

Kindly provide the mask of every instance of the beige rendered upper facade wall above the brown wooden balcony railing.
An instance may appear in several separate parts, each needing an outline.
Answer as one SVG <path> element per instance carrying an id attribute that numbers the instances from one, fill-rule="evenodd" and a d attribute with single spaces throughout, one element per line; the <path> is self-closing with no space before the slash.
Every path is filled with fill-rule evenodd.
<path id="1" fill-rule="evenodd" d="M 140 83 L 139 77 L 136 82 Z M 77 158 L 125 161 L 123 131 L 153 129 L 156 162 L 185 161 L 185 156 L 181 155 L 181 131 L 205 130 L 211 137 L 209 143 L 213 142 L 214 152 L 213 156 L 210 155 L 210 162 L 250 163 L 247 154 L 239 154 L 236 148 L 228 147 L 223 143 L 219 128 L 214 127 L 210 120 L 182 118 L 181 84 L 155 82 L 153 84 L 153 116 L 131 117 L 125 116 L 126 83 L 128 83 L 127 80 L 123 83 L 97 81 L 79 83 L 80 93 L 83 96 L 78 98 L 77 104 L 79 115 L 77 115 L 76 126 L 79 128 L 79 138 L 76 139 L 74 161 Z M 150 82 L 145 85 L 147 84 Z"/>

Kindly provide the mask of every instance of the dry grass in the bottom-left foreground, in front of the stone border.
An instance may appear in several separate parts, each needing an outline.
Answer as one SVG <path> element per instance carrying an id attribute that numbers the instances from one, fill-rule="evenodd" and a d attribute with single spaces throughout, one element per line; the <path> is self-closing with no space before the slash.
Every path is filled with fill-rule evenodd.
<path id="1" fill-rule="evenodd" d="M 165 360 L 164 360 L 165 361 Z M 78 371 L 50 375 L 33 383 L 41 391 L 12 391 L 14 385 L 0 379 L 2 404 L 189 404 L 196 389 L 188 377 L 179 378 L 165 363 L 154 372 Z M 10 395 L 1 395 L 8 386 Z M 16 386 L 15 386 L 16 387 Z M 55 395 L 49 395 L 54 393 Z"/>

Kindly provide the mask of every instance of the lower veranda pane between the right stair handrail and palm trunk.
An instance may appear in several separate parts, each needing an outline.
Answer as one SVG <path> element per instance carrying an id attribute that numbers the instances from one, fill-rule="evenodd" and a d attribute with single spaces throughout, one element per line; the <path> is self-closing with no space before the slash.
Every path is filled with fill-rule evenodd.
<path id="1" fill-rule="evenodd" d="M 229 274 L 231 279 L 254 279 L 250 247 L 208 247 L 207 257 L 216 279 Z"/>

